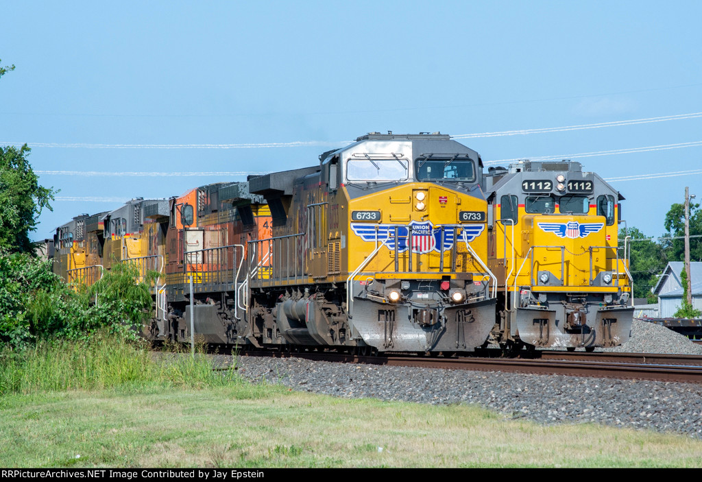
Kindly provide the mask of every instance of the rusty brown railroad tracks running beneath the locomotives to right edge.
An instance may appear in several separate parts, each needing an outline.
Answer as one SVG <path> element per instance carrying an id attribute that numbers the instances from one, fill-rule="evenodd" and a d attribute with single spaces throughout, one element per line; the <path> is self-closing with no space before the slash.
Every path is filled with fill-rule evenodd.
<path id="1" fill-rule="evenodd" d="M 498 350 L 484 350 L 484 352 L 495 353 L 481 353 L 485 356 L 465 356 L 460 358 L 430 358 L 393 354 L 388 356 L 357 356 L 326 352 L 289 354 L 251 352 L 249 354 L 277 357 L 296 356 L 311 360 L 370 363 L 386 366 L 702 383 L 702 356 L 543 351 L 536 352 L 536 358 L 505 359 L 498 357 Z"/>

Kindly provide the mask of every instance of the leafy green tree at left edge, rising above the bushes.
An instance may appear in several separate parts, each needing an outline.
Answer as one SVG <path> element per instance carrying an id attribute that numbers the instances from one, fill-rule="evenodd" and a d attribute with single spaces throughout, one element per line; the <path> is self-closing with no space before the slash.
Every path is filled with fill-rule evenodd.
<path id="1" fill-rule="evenodd" d="M 37 227 L 41 210 L 53 210 L 53 189 L 39 185 L 27 161 L 29 147 L 0 147 L 0 249 L 32 252 L 29 232 Z"/>

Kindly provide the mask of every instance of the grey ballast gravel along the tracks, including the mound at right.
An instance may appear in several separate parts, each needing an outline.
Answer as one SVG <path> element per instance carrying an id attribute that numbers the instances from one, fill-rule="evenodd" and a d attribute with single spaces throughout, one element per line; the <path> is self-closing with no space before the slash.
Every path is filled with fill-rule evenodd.
<path id="1" fill-rule="evenodd" d="M 615 351 L 702 354 L 702 347 L 668 328 L 641 321 L 634 323 L 632 340 Z M 237 369 L 253 382 L 265 380 L 333 396 L 415 403 L 475 403 L 511 418 L 540 423 L 595 422 L 671 431 L 702 439 L 702 384 L 253 356 L 239 357 Z"/>

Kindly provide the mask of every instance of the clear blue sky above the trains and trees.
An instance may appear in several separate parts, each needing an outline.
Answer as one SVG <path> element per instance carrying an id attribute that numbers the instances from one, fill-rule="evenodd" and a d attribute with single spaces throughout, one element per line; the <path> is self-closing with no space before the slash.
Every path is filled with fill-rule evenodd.
<path id="1" fill-rule="evenodd" d="M 686 185 L 702 197 L 699 1 L 3 1 L 0 15 L 17 67 L 0 79 L 0 144 L 27 142 L 60 189 L 34 239 L 132 197 L 311 166 L 373 130 L 479 134 L 461 142 L 486 163 L 658 175 L 612 182 L 649 236 Z M 166 172 L 227 174 L 152 175 Z"/>

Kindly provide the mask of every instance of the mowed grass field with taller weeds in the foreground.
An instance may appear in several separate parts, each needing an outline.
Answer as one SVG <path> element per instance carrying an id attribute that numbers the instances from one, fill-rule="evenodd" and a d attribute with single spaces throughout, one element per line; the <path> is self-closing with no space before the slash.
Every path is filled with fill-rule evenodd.
<path id="1" fill-rule="evenodd" d="M 4 363 L 2 467 L 702 467 L 702 441 L 684 436 L 299 393 L 223 377 L 205 357 L 146 356 L 135 368 L 131 356 L 129 369 L 113 359 L 107 375 L 105 360 L 88 363 L 101 352 L 63 346 Z M 39 383 L 40 359 L 63 383 Z"/>

